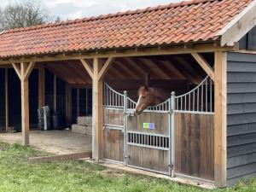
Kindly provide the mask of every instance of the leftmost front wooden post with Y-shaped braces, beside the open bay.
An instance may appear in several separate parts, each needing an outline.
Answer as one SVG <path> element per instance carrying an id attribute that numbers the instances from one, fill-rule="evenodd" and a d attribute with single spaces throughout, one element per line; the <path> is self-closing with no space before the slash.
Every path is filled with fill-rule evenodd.
<path id="1" fill-rule="evenodd" d="M 22 140 L 24 145 L 29 145 L 29 89 L 28 78 L 32 72 L 35 63 L 12 63 L 15 72 L 20 78 L 20 92 L 21 92 L 21 127 L 22 127 Z"/>

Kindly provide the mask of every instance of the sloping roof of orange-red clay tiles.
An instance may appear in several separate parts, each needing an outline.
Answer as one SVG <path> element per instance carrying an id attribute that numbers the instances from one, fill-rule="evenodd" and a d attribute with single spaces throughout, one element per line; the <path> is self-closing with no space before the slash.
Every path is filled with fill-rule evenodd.
<path id="1" fill-rule="evenodd" d="M 41 26 L 0 35 L 0 57 L 218 40 L 253 0 L 193 0 Z"/>

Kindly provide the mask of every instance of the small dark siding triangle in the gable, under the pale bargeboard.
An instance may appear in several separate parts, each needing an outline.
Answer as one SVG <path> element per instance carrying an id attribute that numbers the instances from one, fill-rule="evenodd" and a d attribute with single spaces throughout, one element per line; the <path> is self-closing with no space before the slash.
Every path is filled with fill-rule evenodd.
<path id="1" fill-rule="evenodd" d="M 256 50 L 256 26 L 239 41 L 240 49 Z"/>

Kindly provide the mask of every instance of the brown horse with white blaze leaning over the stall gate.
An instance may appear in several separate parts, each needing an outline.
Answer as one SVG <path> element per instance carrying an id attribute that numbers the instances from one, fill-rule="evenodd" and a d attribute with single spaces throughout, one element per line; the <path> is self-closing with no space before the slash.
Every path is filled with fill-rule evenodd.
<path id="1" fill-rule="evenodd" d="M 159 105 L 165 102 L 169 97 L 165 90 L 154 87 L 143 86 L 137 91 L 138 101 L 136 104 L 135 113 L 143 113 L 143 110 L 149 106 Z"/>

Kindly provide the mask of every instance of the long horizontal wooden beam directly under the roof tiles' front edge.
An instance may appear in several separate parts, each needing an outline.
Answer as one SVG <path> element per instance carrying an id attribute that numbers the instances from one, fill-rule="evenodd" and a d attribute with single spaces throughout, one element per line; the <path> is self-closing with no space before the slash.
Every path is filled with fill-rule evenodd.
<path id="1" fill-rule="evenodd" d="M 136 49 L 124 49 L 122 52 L 113 50 L 106 50 L 103 53 L 96 54 L 95 51 L 79 51 L 69 55 L 55 54 L 55 55 L 33 55 L 31 57 L 14 57 L 6 60 L 0 60 L 0 65 L 9 64 L 11 62 L 43 62 L 43 61 L 67 61 L 67 60 L 84 60 L 93 58 L 106 57 L 131 57 L 131 56 L 147 56 L 147 55 L 180 55 L 190 53 L 208 53 L 215 51 L 232 51 L 236 50 L 234 47 L 219 47 L 213 46 L 213 43 L 195 44 L 193 48 L 185 49 L 183 45 L 171 45 L 166 49 L 159 49 L 158 47 L 144 48 L 137 51 Z"/>

